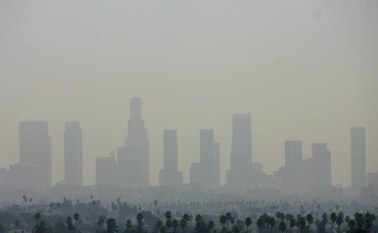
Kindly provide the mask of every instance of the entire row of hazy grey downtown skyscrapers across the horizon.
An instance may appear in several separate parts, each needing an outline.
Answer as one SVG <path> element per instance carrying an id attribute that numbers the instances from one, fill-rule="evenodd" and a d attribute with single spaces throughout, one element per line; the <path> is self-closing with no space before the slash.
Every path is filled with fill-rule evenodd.
<path id="1" fill-rule="evenodd" d="M 190 183 L 209 187 L 220 186 L 220 145 L 215 142 L 214 130 L 200 129 L 200 161 L 191 164 Z M 20 122 L 20 162 L 0 169 L 6 177 L 1 186 L 50 187 L 51 137 L 48 122 Z M 164 168 L 159 172 L 160 186 L 183 184 L 178 171 L 177 130 L 163 131 Z M 366 186 L 365 128 L 351 128 L 352 187 Z M 65 122 L 64 184 L 83 185 L 82 128 L 79 122 Z M 259 182 L 295 192 L 299 188 L 324 188 L 332 185 L 331 152 L 325 143 L 312 144 L 310 159 L 302 157 L 302 141 L 285 141 L 285 166 L 263 173 L 262 164 L 252 160 L 251 115 L 233 114 L 231 168 L 226 171 L 226 185 L 256 187 Z M 96 158 L 96 185 L 104 187 L 146 188 L 149 180 L 149 139 L 142 118 L 142 100 L 130 99 L 128 137 L 108 157 Z M 378 173 L 367 174 L 368 182 L 378 186 Z"/>

